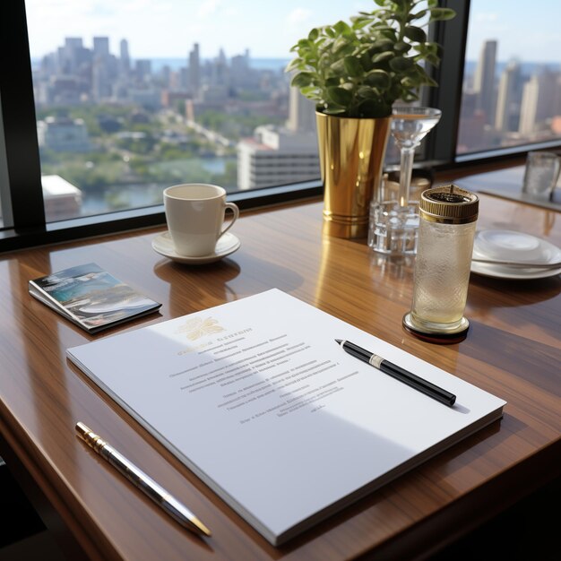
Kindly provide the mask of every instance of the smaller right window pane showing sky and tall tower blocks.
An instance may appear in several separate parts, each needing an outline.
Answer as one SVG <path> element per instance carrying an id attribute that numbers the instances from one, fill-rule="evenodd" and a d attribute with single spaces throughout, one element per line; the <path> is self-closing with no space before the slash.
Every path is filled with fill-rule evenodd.
<path id="1" fill-rule="evenodd" d="M 457 153 L 561 141 L 561 4 L 471 0 Z"/>

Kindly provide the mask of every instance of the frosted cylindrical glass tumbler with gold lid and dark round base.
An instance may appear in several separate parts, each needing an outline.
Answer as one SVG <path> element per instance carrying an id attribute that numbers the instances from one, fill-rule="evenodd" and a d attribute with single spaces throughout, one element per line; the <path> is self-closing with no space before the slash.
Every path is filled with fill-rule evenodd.
<path id="1" fill-rule="evenodd" d="M 404 327 L 423 339 L 460 340 L 479 211 L 477 195 L 458 186 L 427 189 L 419 204 L 419 242 L 411 310 Z"/>

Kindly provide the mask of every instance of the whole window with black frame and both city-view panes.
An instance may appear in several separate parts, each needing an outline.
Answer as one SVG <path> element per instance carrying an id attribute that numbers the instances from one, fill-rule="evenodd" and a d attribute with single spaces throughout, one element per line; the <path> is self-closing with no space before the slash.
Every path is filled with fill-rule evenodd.
<path id="1" fill-rule="evenodd" d="M 533 30 L 542 39 L 548 33 L 556 18 L 543 13 L 557 13 L 557 4 L 543 0 L 547 8 L 523 12 L 520 29 L 513 12 L 521 11 L 506 0 L 440 4 L 457 17 L 430 30 L 444 54 L 439 87 L 423 102 L 443 117 L 427 136 L 425 158 L 450 165 L 527 151 L 527 142 L 561 145 L 558 49 L 531 40 Z M 242 208 L 321 194 L 313 107 L 289 90 L 283 72 L 289 47 L 313 25 L 375 7 L 0 4 L 0 46 L 10 54 L 0 72 L 0 251 L 162 224 L 161 190 L 174 183 L 219 183 Z M 513 37 L 529 46 L 518 63 L 510 60 Z M 542 44 L 543 56 L 530 50 Z M 524 95 L 537 99 L 534 109 L 522 110 Z"/>

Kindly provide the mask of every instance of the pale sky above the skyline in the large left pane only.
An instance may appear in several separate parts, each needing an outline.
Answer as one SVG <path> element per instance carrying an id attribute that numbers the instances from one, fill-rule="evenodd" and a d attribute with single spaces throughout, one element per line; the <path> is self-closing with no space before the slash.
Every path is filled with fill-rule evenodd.
<path id="1" fill-rule="evenodd" d="M 4 0 L 9 1 L 9 0 Z M 330 5 L 331 4 L 331 5 Z M 255 57 L 289 58 L 315 25 L 372 11 L 372 0 L 26 0 L 31 56 L 56 50 L 65 37 L 109 37 L 117 54 L 128 39 L 133 58 L 181 57 L 200 45 L 210 58 L 249 48 Z"/>

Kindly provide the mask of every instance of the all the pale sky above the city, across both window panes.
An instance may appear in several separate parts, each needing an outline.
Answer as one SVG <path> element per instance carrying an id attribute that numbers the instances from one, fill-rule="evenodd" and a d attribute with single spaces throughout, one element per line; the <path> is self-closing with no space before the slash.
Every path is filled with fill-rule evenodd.
<path id="1" fill-rule="evenodd" d="M 4 0 L 8 1 L 8 0 Z M 117 55 L 128 39 L 133 58 L 184 57 L 195 42 L 201 56 L 290 58 L 289 48 L 316 25 L 349 21 L 372 0 L 26 0 L 31 56 L 55 51 L 65 37 L 110 39 Z M 544 17 L 548 14 L 548 17 Z M 497 39 L 498 60 L 556 62 L 561 59 L 561 2 L 471 0 L 468 60 L 477 60 L 485 40 Z"/>

